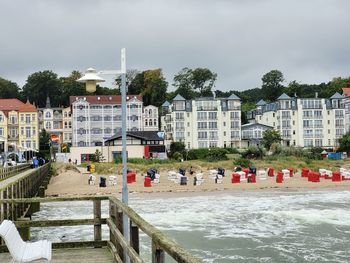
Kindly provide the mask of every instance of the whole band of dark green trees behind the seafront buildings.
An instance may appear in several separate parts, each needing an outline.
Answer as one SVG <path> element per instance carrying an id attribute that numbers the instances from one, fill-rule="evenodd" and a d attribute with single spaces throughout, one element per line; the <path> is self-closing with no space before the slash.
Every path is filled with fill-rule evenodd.
<path id="1" fill-rule="evenodd" d="M 350 77 L 336 77 L 328 83 L 303 84 L 291 81 L 284 84 L 283 73 L 279 70 L 271 70 L 261 78 L 261 86 L 252 89 L 238 91 L 223 91 L 215 89 L 217 74 L 207 68 L 183 68 L 173 77 L 172 86 L 174 91 L 168 91 L 169 83 L 165 79 L 162 69 L 150 69 L 138 71 L 135 69 L 127 71 L 128 94 L 141 94 L 144 105 L 161 106 L 164 101 L 171 101 L 176 94 L 185 99 L 197 97 L 228 97 L 235 94 L 242 100 L 242 112 L 255 108 L 256 102 L 260 99 L 274 101 L 282 93 L 289 96 L 303 98 L 314 97 L 318 93 L 320 98 L 329 98 L 335 92 L 342 92 L 342 88 L 350 87 Z M 84 83 L 76 80 L 82 73 L 74 70 L 67 77 L 58 77 L 51 70 L 35 72 L 28 76 L 23 87 L 17 83 L 0 77 L 0 98 L 19 98 L 22 101 L 29 99 L 31 103 L 39 107 L 45 107 L 47 96 L 50 97 L 51 106 L 69 106 L 69 96 L 88 95 Z M 115 84 L 120 84 L 116 77 Z M 120 94 L 118 89 L 111 89 L 97 85 L 96 95 Z M 244 122 L 244 116 L 243 116 Z"/>

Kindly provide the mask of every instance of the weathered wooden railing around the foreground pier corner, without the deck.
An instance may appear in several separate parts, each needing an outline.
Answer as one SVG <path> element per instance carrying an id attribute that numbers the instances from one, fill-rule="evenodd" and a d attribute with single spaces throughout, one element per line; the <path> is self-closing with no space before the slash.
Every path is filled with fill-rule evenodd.
<path id="1" fill-rule="evenodd" d="M 109 218 L 101 217 L 101 201 L 109 200 Z M 165 253 L 177 262 L 199 263 L 198 258 L 193 256 L 174 240 L 168 238 L 160 230 L 146 222 L 133 209 L 123 204 L 113 196 L 84 196 L 84 197 L 50 197 L 50 198 L 20 198 L 3 199 L 0 204 L 19 205 L 24 203 L 47 203 L 47 202 L 72 202 L 72 201 L 92 201 L 93 219 L 63 219 L 63 220 L 35 220 L 35 221 L 15 221 L 22 237 L 30 236 L 30 227 L 53 227 L 53 226 L 77 226 L 93 225 L 94 240 L 53 243 L 53 248 L 67 247 L 102 247 L 108 246 L 113 254 L 115 262 L 124 262 L 124 252 L 129 256 L 132 263 L 145 262 L 139 254 L 139 230 L 143 231 L 152 240 L 152 263 L 165 262 Z M 129 233 L 130 241 L 123 235 L 123 214 L 130 220 Z M 107 224 L 110 231 L 109 240 L 102 240 L 102 225 Z"/>

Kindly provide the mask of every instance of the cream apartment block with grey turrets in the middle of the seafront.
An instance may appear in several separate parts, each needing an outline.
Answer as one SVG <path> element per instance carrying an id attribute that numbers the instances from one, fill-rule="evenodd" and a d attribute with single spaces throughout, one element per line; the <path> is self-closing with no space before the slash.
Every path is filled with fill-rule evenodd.
<path id="1" fill-rule="evenodd" d="M 168 148 L 172 141 L 183 142 L 187 149 L 240 147 L 241 100 L 234 94 L 195 100 L 178 94 L 162 105 L 161 123 Z"/>

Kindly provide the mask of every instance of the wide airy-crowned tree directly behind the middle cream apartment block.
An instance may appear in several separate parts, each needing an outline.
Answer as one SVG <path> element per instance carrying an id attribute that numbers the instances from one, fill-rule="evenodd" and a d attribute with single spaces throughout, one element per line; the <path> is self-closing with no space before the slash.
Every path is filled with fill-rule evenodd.
<path id="1" fill-rule="evenodd" d="M 176 88 L 175 92 L 185 99 L 212 96 L 212 88 L 216 78 L 217 74 L 207 68 L 183 68 L 174 76 L 173 86 Z"/>

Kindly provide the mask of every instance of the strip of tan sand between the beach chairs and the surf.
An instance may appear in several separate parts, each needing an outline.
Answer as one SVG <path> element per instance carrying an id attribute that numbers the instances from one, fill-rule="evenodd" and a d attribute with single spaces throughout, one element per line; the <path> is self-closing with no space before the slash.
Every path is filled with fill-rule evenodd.
<path id="1" fill-rule="evenodd" d="M 109 175 L 96 175 L 95 185 L 89 185 L 88 179 L 90 173 L 86 169 L 80 171 L 68 170 L 53 176 L 46 190 L 47 196 L 71 196 L 71 195 L 108 195 L 118 194 L 122 191 L 122 176 L 117 175 L 117 185 L 109 185 Z M 275 177 L 267 177 L 265 180 L 257 178 L 256 183 L 247 183 L 246 181 L 239 184 L 232 184 L 232 171 L 228 170 L 223 177 L 222 183 L 216 184 L 211 179 L 209 172 L 204 172 L 204 182 L 201 185 L 194 185 L 194 175 L 187 174 L 187 185 L 175 184 L 168 179 L 167 172 L 160 173 L 160 182 L 152 183 L 151 187 L 144 187 L 144 175 L 137 174 L 136 182 L 128 184 L 130 194 L 145 193 L 197 193 L 212 191 L 259 191 L 259 190 L 298 190 L 298 189 L 349 189 L 350 180 L 341 182 L 332 182 L 330 179 L 322 179 L 319 183 L 308 182 L 307 178 L 301 177 L 300 171 L 297 171 L 293 177 L 285 179 L 283 183 L 276 183 Z M 99 187 L 100 177 L 107 180 L 106 187 Z"/>

